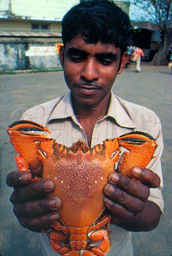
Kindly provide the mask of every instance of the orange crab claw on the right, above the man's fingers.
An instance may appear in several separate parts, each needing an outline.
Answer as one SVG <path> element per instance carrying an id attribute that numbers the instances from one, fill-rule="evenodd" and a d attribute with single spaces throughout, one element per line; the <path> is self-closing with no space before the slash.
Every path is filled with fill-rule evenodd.
<path id="1" fill-rule="evenodd" d="M 132 167 L 146 167 L 154 158 L 153 154 L 158 145 L 150 134 L 137 131 L 121 135 L 117 140 L 119 147 L 129 150 L 122 154 L 118 171 L 134 178 L 131 172 Z"/>

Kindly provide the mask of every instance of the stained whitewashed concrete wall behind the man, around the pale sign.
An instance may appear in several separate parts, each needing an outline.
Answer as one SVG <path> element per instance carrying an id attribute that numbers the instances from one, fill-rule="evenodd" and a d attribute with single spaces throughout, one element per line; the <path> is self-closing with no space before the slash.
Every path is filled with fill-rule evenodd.
<path id="1" fill-rule="evenodd" d="M 59 42 L 58 42 L 59 41 Z M 60 68 L 59 55 L 53 56 L 30 56 L 27 57 L 25 52 L 30 46 L 55 46 L 60 43 L 60 38 L 30 38 L 18 41 L 4 39 L 0 41 L 0 72 L 7 70 L 24 70 L 24 69 L 52 69 Z"/>

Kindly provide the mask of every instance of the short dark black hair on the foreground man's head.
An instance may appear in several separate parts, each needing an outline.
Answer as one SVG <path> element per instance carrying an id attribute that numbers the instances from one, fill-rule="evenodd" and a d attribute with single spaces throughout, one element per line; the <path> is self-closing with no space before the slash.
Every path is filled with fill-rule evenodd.
<path id="1" fill-rule="evenodd" d="M 121 54 L 131 44 L 132 27 L 128 15 L 111 0 L 82 1 L 73 6 L 62 20 L 62 41 L 65 46 L 81 34 L 88 43 L 113 44 Z"/>

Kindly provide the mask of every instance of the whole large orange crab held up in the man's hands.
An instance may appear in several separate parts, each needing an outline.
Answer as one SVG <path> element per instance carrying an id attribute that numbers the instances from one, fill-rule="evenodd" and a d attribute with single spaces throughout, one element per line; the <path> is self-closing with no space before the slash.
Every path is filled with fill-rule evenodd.
<path id="1" fill-rule="evenodd" d="M 42 178 L 55 183 L 48 196 L 62 199 L 60 220 L 48 231 L 52 249 L 63 256 L 107 254 L 111 216 L 105 211 L 103 187 L 115 170 L 121 148 L 125 152 L 119 170 L 133 178 L 132 167 L 145 167 L 153 158 L 157 147 L 154 138 L 147 133 L 130 132 L 89 148 L 80 140 L 71 147 L 63 146 L 41 134 L 50 133 L 46 127 L 31 121 L 14 122 L 7 132 L 20 154 L 15 156 L 19 171 L 32 171 L 43 164 Z"/>

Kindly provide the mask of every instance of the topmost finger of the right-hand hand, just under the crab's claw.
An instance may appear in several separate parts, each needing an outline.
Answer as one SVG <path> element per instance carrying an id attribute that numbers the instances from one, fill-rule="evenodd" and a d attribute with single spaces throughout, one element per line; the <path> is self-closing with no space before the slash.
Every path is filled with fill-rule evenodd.
<path id="1" fill-rule="evenodd" d="M 133 175 L 150 188 L 158 188 L 160 185 L 160 178 L 158 174 L 152 172 L 150 169 L 135 166 L 132 168 Z"/>

